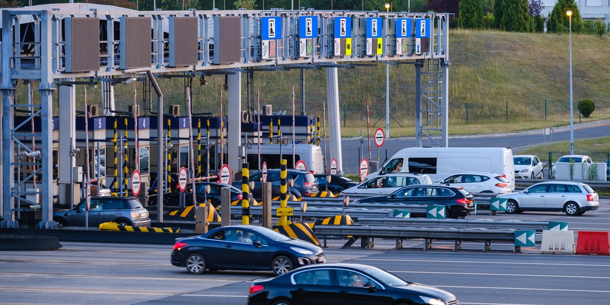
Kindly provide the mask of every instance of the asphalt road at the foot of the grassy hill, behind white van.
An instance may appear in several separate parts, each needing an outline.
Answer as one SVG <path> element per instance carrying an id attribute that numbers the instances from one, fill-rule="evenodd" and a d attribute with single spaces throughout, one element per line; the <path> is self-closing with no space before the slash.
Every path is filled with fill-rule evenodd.
<path id="1" fill-rule="evenodd" d="M 610 135 L 609 125 L 610 120 L 597 121 L 583 124 L 575 124 L 574 139 L 583 140 L 586 138 L 608 137 Z M 390 132 L 392 129 L 390 128 Z M 371 133 L 375 130 L 371 130 Z M 545 141 L 559 142 L 570 140 L 570 127 L 562 126 L 553 129 L 552 135 L 542 135 L 542 130 L 511 132 L 506 134 L 486 134 L 486 135 L 456 135 L 449 137 L 450 147 L 509 147 L 513 152 L 518 153 L 529 146 L 544 144 Z M 323 143 L 320 143 L 324 151 Z M 423 142 L 423 146 L 436 146 L 432 143 Z M 415 138 L 386 138 L 384 145 L 379 148 L 379 160 L 383 162 L 386 157 L 389 159 L 397 151 L 407 147 L 415 147 Z M 362 149 L 361 149 L 362 147 Z M 341 151 L 343 154 L 343 171 L 345 173 L 357 173 L 359 160 L 362 159 L 362 154 L 368 159 L 367 137 L 365 135 L 364 143 L 360 143 L 358 138 L 343 138 L 341 140 Z M 362 152 L 361 152 L 362 151 Z M 330 162 L 332 156 L 327 151 L 327 160 Z M 375 146 L 375 140 L 371 134 L 371 160 L 377 160 L 378 149 Z"/>

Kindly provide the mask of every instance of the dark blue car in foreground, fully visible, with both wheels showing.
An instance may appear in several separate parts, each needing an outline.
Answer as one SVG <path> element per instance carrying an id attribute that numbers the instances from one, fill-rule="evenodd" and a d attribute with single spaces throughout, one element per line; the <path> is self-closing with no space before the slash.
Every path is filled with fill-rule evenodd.
<path id="1" fill-rule="evenodd" d="M 188 273 L 206 270 L 270 270 L 287 273 L 325 262 L 322 248 L 262 226 L 224 226 L 201 236 L 176 239 L 171 264 Z"/>

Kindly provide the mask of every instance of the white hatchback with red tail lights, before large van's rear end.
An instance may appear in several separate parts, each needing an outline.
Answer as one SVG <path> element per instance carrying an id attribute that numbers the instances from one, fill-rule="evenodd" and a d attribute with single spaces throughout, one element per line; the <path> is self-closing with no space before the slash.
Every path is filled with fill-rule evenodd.
<path id="1" fill-rule="evenodd" d="M 479 173 L 468 171 L 452 174 L 436 184 L 462 187 L 468 193 L 496 193 L 507 194 L 511 192 L 511 184 L 503 174 Z"/>

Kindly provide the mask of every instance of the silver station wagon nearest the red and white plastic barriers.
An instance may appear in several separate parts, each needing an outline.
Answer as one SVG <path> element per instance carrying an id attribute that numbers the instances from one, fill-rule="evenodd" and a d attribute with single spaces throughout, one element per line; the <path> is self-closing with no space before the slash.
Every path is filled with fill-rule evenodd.
<path id="1" fill-rule="evenodd" d="M 593 188 L 581 182 L 540 182 L 519 193 L 498 195 L 508 199 L 506 213 L 525 210 L 564 212 L 567 215 L 583 215 L 588 210 L 597 210 L 599 196 Z"/>

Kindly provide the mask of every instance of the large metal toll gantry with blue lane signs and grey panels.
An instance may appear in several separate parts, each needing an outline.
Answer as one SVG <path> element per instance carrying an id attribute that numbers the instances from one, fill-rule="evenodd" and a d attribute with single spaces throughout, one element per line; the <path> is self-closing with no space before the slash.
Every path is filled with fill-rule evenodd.
<path id="1" fill-rule="evenodd" d="M 72 197 L 75 155 L 87 156 L 85 168 L 91 173 L 88 177 L 93 178 L 102 171 L 100 163 L 104 159 L 92 152 L 98 149 L 94 143 L 88 143 L 87 138 L 88 149 L 80 152 L 77 149 L 83 145 L 79 132 L 93 138 L 98 134 L 99 138 L 92 142 L 106 150 L 109 156 L 105 159 L 106 167 L 112 158 L 110 152 L 115 152 L 115 163 L 124 157 L 117 157 L 117 152 L 129 153 L 123 146 L 117 147 L 117 142 L 124 147 L 139 144 L 150 149 L 148 156 L 156 160 L 150 159 L 149 169 L 151 173 L 156 171 L 160 183 L 164 184 L 163 170 L 167 168 L 157 165 L 165 164 L 171 145 L 161 136 L 168 134 L 166 120 L 170 113 L 165 110 L 159 87 L 163 77 L 226 75 L 230 93 L 226 110 L 228 126 L 226 142 L 224 136 L 220 137 L 221 143 L 224 142 L 220 149 L 226 152 L 223 162 L 226 160 L 235 169 L 243 162 L 239 156 L 243 143 L 241 74 L 256 69 L 325 68 L 329 148 L 337 160 L 339 173 L 342 173 L 342 158 L 337 68 L 371 62 L 413 64 L 417 84 L 416 140 L 420 146 L 424 138 L 437 146 L 447 146 L 448 18 L 447 13 L 314 9 L 145 12 L 85 3 L 3 9 L 0 85 L 0 213 L 3 220 L 0 226 L 17 226 L 15 211 L 23 204 L 34 204 L 36 200 L 32 198 L 40 198 L 42 221 L 38 226 L 56 228 L 52 220 L 54 190 L 59 188 L 61 203 Z M 32 94 L 27 102 L 17 103 L 15 91 L 19 81 L 37 83 L 38 94 Z M 157 103 L 156 109 L 150 106 L 148 115 L 154 120 L 134 123 L 138 121 L 135 107 L 134 120 L 118 123 L 124 133 L 109 132 L 117 124 L 116 119 L 110 118 L 117 114 L 113 109 L 112 86 L 129 81 L 146 81 L 151 86 L 151 96 L 156 95 Z M 76 120 L 79 112 L 76 88 L 99 82 L 104 87 L 104 120 L 95 121 L 98 126 L 88 126 L 94 123 L 87 118 L 88 110 L 84 111 L 84 120 Z M 29 88 L 35 90 L 32 85 Z M 58 117 L 53 116 L 54 109 Z M 188 122 L 190 126 L 201 122 L 201 118 L 190 118 L 191 109 L 187 111 L 187 120 L 193 120 Z M 16 120 L 16 113 L 27 115 Z M 37 128 L 24 127 L 35 120 Z M 153 121 L 155 126 L 143 128 L 143 134 L 138 131 L 135 137 L 127 135 L 131 129 L 144 127 L 140 124 Z M 85 129 L 82 129 L 83 123 Z M 137 134 L 142 138 L 138 139 Z M 140 149 L 134 152 L 146 153 Z M 93 161 L 88 162 L 90 159 Z M 139 157 L 134 160 L 142 162 Z M 117 166 L 114 170 L 117 171 Z M 131 176 L 127 172 L 123 174 L 119 184 Z M 159 192 L 158 221 L 162 221 L 162 197 Z"/>

